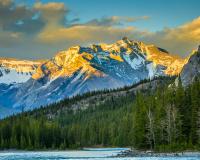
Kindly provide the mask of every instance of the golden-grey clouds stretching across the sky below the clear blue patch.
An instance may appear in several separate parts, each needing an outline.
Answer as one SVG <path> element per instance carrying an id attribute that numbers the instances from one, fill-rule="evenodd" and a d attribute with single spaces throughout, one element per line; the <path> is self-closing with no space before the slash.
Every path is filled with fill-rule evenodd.
<path id="1" fill-rule="evenodd" d="M 113 15 L 84 22 L 79 17 L 70 17 L 72 12 L 62 2 L 36 1 L 26 6 L 0 0 L 0 56 L 46 58 L 71 45 L 113 42 L 124 36 L 184 56 L 200 39 L 200 17 L 175 28 L 151 32 L 136 28 L 134 23 L 148 23 L 146 20 L 152 16 Z"/>

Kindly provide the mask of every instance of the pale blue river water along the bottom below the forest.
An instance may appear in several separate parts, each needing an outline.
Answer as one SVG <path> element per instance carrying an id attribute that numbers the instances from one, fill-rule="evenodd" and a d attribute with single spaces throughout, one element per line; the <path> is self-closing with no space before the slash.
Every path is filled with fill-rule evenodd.
<path id="1" fill-rule="evenodd" d="M 87 148 L 81 151 L 2 151 L 0 160 L 200 160 L 195 155 L 181 157 L 124 157 L 113 158 L 128 148 Z"/>

